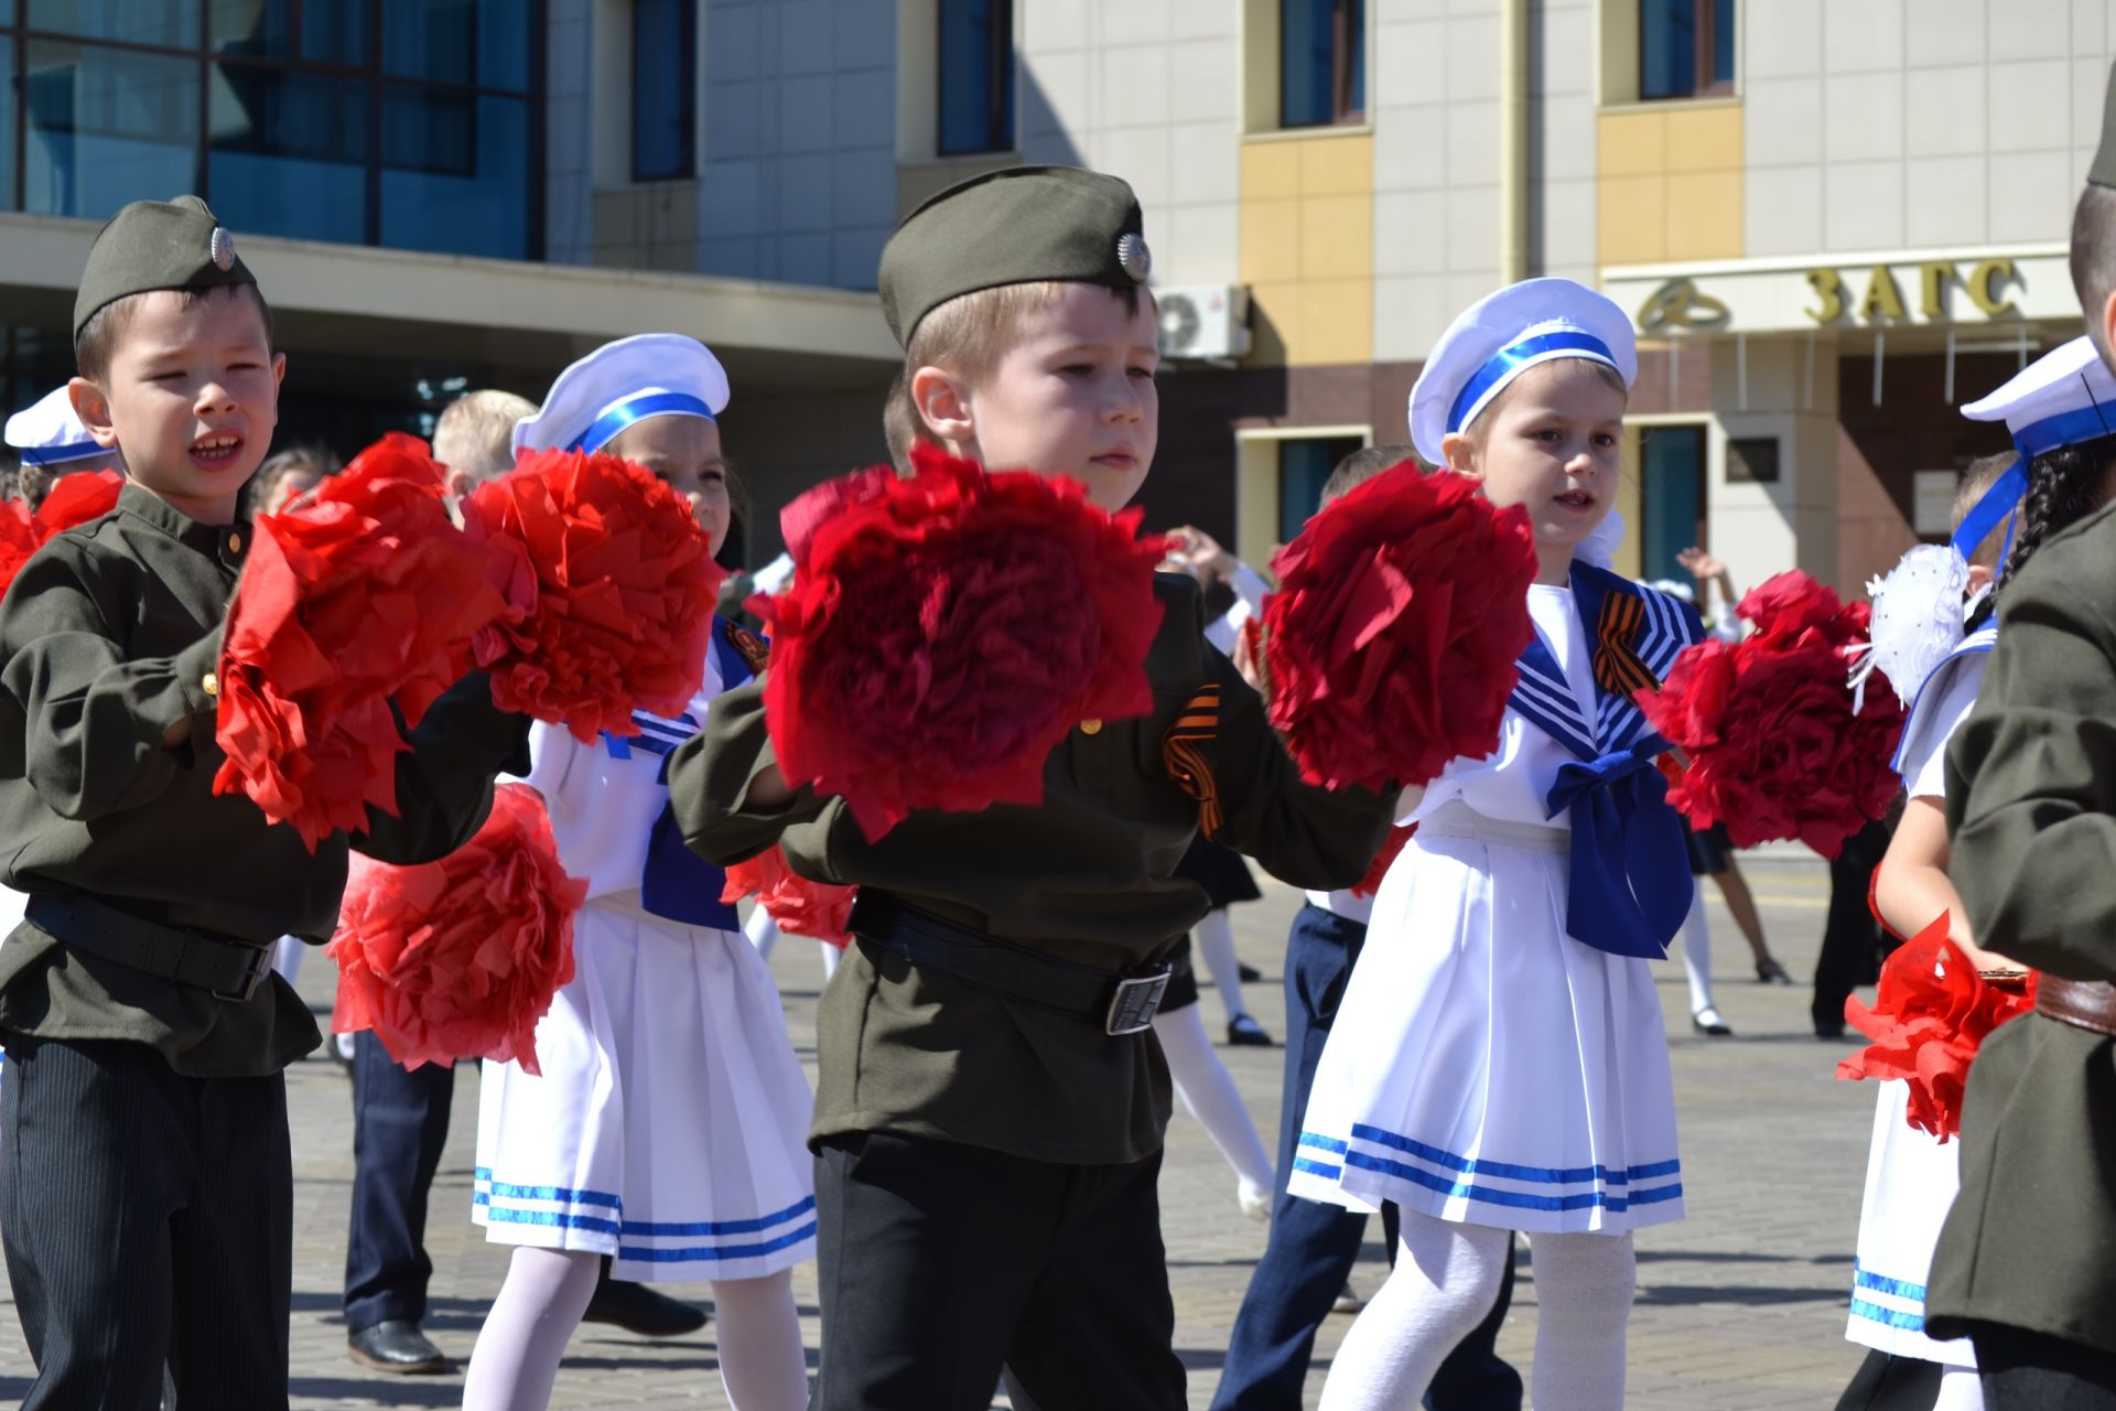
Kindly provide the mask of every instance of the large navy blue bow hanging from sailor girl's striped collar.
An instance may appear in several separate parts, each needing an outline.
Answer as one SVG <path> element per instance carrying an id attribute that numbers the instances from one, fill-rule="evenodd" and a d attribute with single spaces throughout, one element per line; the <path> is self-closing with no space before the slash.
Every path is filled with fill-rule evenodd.
<path id="1" fill-rule="evenodd" d="M 1667 740 L 1646 734 L 1598 759 L 1570 759 L 1545 804 L 1572 810 L 1566 931 L 1612 956 L 1661 960 L 1691 910 L 1689 850 L 1653 759 Z"/>

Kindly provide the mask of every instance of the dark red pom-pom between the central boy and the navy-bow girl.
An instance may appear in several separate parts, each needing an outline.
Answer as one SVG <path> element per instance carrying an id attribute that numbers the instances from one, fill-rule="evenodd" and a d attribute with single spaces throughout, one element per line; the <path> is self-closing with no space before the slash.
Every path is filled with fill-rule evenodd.
<path id="1" fill-rule="evenodd" d="M 1498 749 L 1534 635 L 1526 512 L 1397 465 L 1325 506 L 1272 567 L 1272 723 L 1308 783 L 1422 785 Z"/>

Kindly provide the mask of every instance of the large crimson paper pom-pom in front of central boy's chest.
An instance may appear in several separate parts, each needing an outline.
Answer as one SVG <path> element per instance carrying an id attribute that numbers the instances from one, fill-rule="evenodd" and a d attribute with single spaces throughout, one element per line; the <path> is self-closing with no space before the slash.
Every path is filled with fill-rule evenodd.
<path id="1" fill-rule="evenodd" d="M 1073 726 L 1153 704 L 1162 544 L 1138 539 L 1138 510 L 929 446 L 912 463 L 787 506 L 794 586 L 751 601 L 772 624 L 779 768 L 842 795 L 868 838 L 914 808 L 1037 804 Z"/>

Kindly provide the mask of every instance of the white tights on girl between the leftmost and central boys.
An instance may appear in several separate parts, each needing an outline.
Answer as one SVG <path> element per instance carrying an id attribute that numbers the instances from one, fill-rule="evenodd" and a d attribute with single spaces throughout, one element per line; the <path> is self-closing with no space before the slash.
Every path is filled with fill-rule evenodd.
<path id="1" fill-rule="evenodd" d="M 599 1254 L 521 1246 L 485 1316 L 463 1379 L 463 1411 L 544 1411 L 559 1358 L 595 1295 Z M 736 1411 L 804 1411 L 808 1354 L 794 1273 L 713 1284 L 719 1386 Z"/>

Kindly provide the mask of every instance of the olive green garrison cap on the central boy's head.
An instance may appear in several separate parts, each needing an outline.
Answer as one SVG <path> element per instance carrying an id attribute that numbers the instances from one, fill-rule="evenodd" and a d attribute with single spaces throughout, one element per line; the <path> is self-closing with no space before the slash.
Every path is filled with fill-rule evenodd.
<path id="1" fill-rule="evenodd" d="M 940 193 L 882 248 L 882 313 L 908 345 L 918 319 L 1003 283 L 1077 279 L 1132 290 L 1153 273 L 1138 197 L 1081 167 L 1005 167 Z"/>

